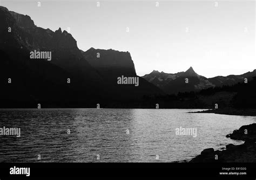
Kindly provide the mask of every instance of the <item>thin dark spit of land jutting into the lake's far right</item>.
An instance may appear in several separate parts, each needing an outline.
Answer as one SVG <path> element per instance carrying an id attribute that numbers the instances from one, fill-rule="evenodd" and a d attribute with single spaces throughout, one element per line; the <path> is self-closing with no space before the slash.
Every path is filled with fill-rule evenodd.
<path id="1" fill-rule="evenodd" d="M 188 113 L 214 113 L 214 114 L 226 114 L 226 115 L 240 115 L 240 116 L 256 116 L 256 109 L 235 109 L 235 108 L 220 108 L 220 109 L 208 109 L 198 112 Z"/>

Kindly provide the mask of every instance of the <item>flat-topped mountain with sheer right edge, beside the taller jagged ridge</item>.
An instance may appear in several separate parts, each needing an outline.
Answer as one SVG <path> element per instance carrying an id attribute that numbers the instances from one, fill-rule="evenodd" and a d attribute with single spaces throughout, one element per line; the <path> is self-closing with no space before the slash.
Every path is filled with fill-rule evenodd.
<path id="1" fill-rule="evenodd" d="M 138 99 L 143 95 L 164 94 L 158 87 L 137 76 L 131 54 L 115 50 L 100 50 L 91 47 L 83 53 L 90 65 L 102 75 L 105 86 L 110 87 L 112 99 Z M 118 85 L 117 78 L 138 78 L 138 86 Z M 114 89 L 114 91 L 113 91 Z M 132 95 L 133 94 L 133 95 Z"/>

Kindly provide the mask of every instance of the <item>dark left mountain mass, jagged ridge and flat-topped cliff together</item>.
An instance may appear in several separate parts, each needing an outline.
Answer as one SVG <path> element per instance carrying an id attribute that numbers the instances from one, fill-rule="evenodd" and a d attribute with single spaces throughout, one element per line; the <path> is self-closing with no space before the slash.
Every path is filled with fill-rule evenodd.
<path id="1" fill-rule="evenodd" d="M 3 6 L 0 23 L 0 107 L 96 107 L 164 94 L 136 75 L 128 52 L 100 50 L 93 61 L 98 50 L 79 50 L 67 31 L 37 27 L 29 16 Z M 33 51 L 51 52 L 51 60 L 31 59 Z M 139 86 L 118 85 L 119 75 L 138 77 Z"/>

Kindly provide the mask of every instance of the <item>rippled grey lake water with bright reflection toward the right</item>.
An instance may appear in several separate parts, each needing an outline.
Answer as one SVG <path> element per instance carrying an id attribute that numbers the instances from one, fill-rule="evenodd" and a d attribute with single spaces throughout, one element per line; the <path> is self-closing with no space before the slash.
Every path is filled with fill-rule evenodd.
<path id="1" fill-rule="evenodd" d="M 186 113 L 198 110 L 0 109 L 0 128 L 21 128 L 21 137 L 0 136 L 0 162 L 191 160 L 205 148 L 242 143 L 225 136 L 256 122 L 254 116 Z M 179 127 L 197 128 L 197 136 L 176 135 Z"/>

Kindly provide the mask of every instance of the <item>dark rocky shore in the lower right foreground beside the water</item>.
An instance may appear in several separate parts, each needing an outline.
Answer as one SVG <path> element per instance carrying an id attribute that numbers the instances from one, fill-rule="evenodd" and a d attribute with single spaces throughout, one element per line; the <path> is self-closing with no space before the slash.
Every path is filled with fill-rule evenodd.
<path id="1" fill-rule="evenodd" d="M 237 146 L 228 144 L 225 150 L 204 149 L 200 155 L 189 162 L 256 162 L 256 123 L 242 126 L 238 130 L 234 130 L 232 134 L 226 135 L 226 137 L 245 142 Z"/>

